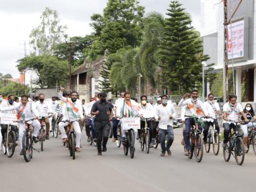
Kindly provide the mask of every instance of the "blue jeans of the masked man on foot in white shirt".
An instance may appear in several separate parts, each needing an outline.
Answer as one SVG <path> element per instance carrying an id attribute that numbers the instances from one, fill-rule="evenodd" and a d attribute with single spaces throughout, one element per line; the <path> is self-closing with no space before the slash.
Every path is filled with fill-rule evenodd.
<path id="1" fill-rule="evenodd" d="M 167 141 L 166 146 L 165 146 L 166 135 L 168 135 L 168 141 Z M 162 152 L 165 152 L 166 149 L 171 148 L 172 142 L 174 141 L 173 127 L 168 126 L 167 130 L 159 129 L 159 136 L 160 136 L 160 143 L 161 143 Z"/>

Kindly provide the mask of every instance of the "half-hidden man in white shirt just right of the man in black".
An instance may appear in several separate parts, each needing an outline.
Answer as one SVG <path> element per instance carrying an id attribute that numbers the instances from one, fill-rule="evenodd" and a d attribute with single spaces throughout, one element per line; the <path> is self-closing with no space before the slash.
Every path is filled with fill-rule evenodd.
<path id="1" fill-rule="evenodd" d="M 116 99 L 114 110 L 115 110 L 115 116 L 113 118 L 113 142 L 117 140 L 117 129 L 118 129 L 118 123 L 120 121 L 119 118 L 116 118 L 116 112 L 119 110 L 119 107 L 122 107 L 122 104 L 124 103 L 124 92 L 120 93 L 120 98 Z"/>

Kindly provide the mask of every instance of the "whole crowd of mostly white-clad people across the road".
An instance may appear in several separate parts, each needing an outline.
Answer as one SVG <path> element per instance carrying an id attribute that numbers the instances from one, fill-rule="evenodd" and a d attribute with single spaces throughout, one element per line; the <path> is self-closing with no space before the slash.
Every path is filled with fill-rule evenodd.
<path id="1" fill-rule="evenodd" d="M 52 97 L 51 102 L 44 99 L 44 94 L 39 94 L 37 101 L 29 101 L 29 96 L 23 94 L 21 101 L 10 94 L 7 100 L 2 99 L 0 94 L 0 112 L 12 113 L 17 117 L 17 123 L 12 126 L 15 132 L 18 131 L 20 140 L 20 147 L 22 146 L 21 139 L 24 134 L 25 123 L 32 124 L 34 127 L 33 137 L 34 143 L 38 142 L 38 130 L 40 129 L 40 117 L 44 117 L 46 124 L 46 139 L 49 140 L 49 132 L 52 127 L 52 122 L 59 114 L 62 116 L 62 121 L 59 123 L 60 134 L 62 141 L 66 142 L 68 137 L 66 135 L 65 127 L 71 122 L 76 133 L 76 147 L 75 151 L 80 152 L 80 141 L 82 127 L 85 126 L 87 141 L 90 142 L 90 131 L 93 135 L 93 140 L 97 142 L 98 155 L 107 151 L 107 141 L 110 129 L 113 129 L 113 139 L 118 140 L 118 126 L 122 124 L 123 118 L 140 118 L 140 129 L 134 129 L 135 138 L 141 142 L 141 130 L 146 126 L 149 128 L 149 148 L 157 142 L 157 134 L 162 148 L 161 156 L 165 156 L 166 152 L 171 155 L 171 146 L 174 141 L 174 130 L 172 120 L 176 117 L 176 110 L 171 101 L 168 101 L 168 96 L 163 95 L 157 99 L 157 103 L 148 101 L 148 97 L 143 95 L 140 97 L 140 103 L 135 98 L 131 98 L 129 92 L 121 92 L 119 98 L 115 103 L 112 100 L 107 101 L 106 93 L 99 93 L 97 97 L 90 99 L 90 107 L 79 100 L 79 95 L 76 91 L 70 94 L 63 94 L 65 88 L 60 89 L 58 97 Z M 224 141 L 223 148 L 229 140 L 230 124 L 232 122 L 243 121 L 236 125 L 236 129 L 244 138 L 245 150 L 247 148 L 247 127 L 254 126 L 252 121 L 256 119 L 254 110 L 251 104 L 246 104 L 245 108 L 239 104 L 235 95 L 229 96 L 229 102 L 224 104 L 223 113 L 219 108 L 218 102 L 215 101 L 212 93 L 208 94 L 207 101 L 199 100 L 199 93 L 197 90 L 186 93 L 179 102 L 181 107 L 181 118 L 185 124 L 183 132 L 182 144 L 185 144 L 185 155 L 189 154 L 190 144 L 190 130 L 193 126 L 193 116 L 202 118 L 204 123 L 199 123 L 199 129 L 203 130 L 204 143 L 207 141 L 208 129 L 212 124 L 215 124 L 215 129 L 219 133 L 218 118 L 223 118 L 224 127 Z M 112 128 L 111 128 L 112 127 Z M 122 128 L 122 126 L 121 126 Z M 6 124 L 1 124 L 0 143 L 2 143 L 2 136 L 7 129 Z M 121 141 L 126 140 L 127 130 L 121 130 Z M 167 138 L 167 139 L 166 139 Z M 22 147 L 21 147 L 22 148 Z M 22 151 L 20 153 L 22 154 Z"/>

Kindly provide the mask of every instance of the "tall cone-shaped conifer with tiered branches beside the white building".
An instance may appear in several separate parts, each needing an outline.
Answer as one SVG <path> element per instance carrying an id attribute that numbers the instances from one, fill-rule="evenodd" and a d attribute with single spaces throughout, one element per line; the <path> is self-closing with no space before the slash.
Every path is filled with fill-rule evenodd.
<path id="1" fill-rule="evenodd" d="M 160 82 L 163 88 L 182 94 L 190 91 L 196 82 L 201 82 L 202 41 L 191 26 L 190 15 L 179 1 L 171 1 L 162 43 Z"/>

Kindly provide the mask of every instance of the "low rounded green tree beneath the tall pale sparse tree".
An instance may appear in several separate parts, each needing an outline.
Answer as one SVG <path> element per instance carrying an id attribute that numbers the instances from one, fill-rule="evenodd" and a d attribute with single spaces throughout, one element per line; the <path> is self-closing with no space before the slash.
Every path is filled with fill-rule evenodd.
<path id="1" fill-rule="evenodd" d="M 18 60 L 18 70 L 30 69 L 35 71 L 38 79 L 35 83 L 41 88 L 54 87 L 57 80 L 59 84 L 65 85 L 68 79 L 68 62 L 58 60 L 51 55 L 30 55 Z"/>

